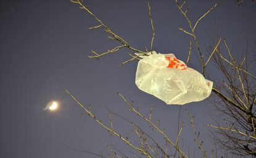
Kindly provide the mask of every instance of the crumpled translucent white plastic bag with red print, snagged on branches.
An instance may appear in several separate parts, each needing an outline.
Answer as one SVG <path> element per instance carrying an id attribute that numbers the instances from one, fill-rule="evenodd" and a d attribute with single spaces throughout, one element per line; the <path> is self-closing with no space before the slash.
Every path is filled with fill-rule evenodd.
<path id="1" fill-rule="evenodd" d="M 184 105 L 209 97 L 213 82 L 188 68 L 173 53 L 148 52 L 139 60 L 135 83 L 146 93 L 163 100 L 167 105 Z"/>

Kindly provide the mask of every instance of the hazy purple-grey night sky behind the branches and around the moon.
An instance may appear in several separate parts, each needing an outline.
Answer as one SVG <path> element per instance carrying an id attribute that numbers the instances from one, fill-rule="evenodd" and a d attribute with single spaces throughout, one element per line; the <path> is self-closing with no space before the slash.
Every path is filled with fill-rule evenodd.
<path id="1" fill-rule="evenodd" d="M 188 15 L 196 22 L 216 1 L 188 1 Z M 109 28 L 136 49 L 150 47 L 152 31 L 147 1 L 144 0 L 88 0 L 86 6 Z M 88 30 L 98 23 L 85 10 L 67 1 L 1 1 L 0 2 L 0 157 L 97 157 L 70 148 L 95 152 L 108 156 L 107 144 L 131 154 L 131 149 L 118 138 L 110 136 L 93 119 L 81 116 L 83 110 L 65 93 L 64 89 L 81 103 L 93 105 L 93 112 L 109 125 L 107 108 L 151 131 L 143 120 L 130 113 L 122 98 L 128 100 L 148 116 L 154 106 L 153 119 L 161 120 L 160 127 L 175 140 L 179 107 L 142 92 L 134 84 L 138 61 L 118 68 L 133 53 L 121 49 L 105 55 L 99 61 L 90 59 L 91 50 L 104 52 L 118 45 L 111 41 L 102 28 Z M 154 50 L 160 53 L 174 52 L 186 61 L 189 37 L 180 30 L 188 30 L 188 23 L 180 14 L 174 1 L 151 1 L 155 26 Z M 202 20 L 196 30 L 204 54 L 205 47 L 223 37 L 235 53 L 242 54 L 247 41 L 255 42 L 256 4 L 244 1 L 221 1 L 218 7 Z M 193 53 L 194 51 L 192 51 Z M 200 71 L 197 58 L 191 58 L 194 69 Z M 207 69 L 212 80 L 218 72 Z M 213 83 L 214 84 L 214 83 Z M 60 107 L 49 112 L 43 109 L 51 100 Z M 181 108 L 184 130 L 181 143 L 190 156 L 200 157 L 185 109 L 195 117 L 197 129 L 202 133 L 204 148 L 210 155 L 214 149 L 210 128 L 215 124 L 208 113 L 209 101 L 189 103 Z M 131 140 L 138 140 L 131 126 L 114 117 L 114 128 Z M 161 137 L 155 133 L 156 138 Z M 157 137 L 159 136 L 159 137 Z M 67 148 L 70 147 L 70 148 Z M 221 154 L 220 154 L 221 155 Z"/>

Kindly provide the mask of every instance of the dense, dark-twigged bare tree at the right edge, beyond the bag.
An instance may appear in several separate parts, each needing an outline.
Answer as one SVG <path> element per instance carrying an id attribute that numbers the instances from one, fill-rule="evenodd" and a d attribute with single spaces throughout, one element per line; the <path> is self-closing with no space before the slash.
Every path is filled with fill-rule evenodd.
<path id="1" fill-rule="evenodd" d="M 224 76 L 224 80 L 216 86 L 221 94 L 212 96 L 215 110 L 223 121 L 218 120 L 217 126 L 209 126 L 218 129 L 215 134 L 221 147 L 237 156 L 256 156 L 255 76 L 249 73 L 255 62 L 248 59 L 254 57 L 245 52 L 239 58 L 233 55 L 225 40 L 224 44 L 226 51 L 219 47 L 213 56 L 215 65 Z M 248 48 L 246 51 L 249 51 Z M 221 55 L 225 54 L 223 52 L 226 52 L 227 58 Z"/>

